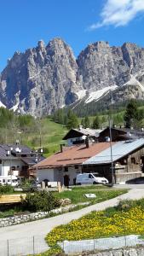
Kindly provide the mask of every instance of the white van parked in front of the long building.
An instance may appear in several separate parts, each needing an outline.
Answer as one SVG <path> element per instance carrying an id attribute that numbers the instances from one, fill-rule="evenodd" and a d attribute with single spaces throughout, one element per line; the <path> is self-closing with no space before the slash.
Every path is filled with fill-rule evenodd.
<path id="1" fill-rule="evenodd" d="M 81 185 L 83 183 L 91 184 L 107 184 L 108 180 L 106 177 L 96 177 L 97 173 L 82 173 L 78 174 L 76 178 L 76 184 Z"/>

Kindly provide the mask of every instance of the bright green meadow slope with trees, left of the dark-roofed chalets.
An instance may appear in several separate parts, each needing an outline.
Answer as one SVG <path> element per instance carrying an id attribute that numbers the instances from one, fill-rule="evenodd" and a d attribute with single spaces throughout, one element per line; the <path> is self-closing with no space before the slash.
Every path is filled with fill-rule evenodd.
<path id="1" fill-rule="evenodd" d="M 0 108 L 0 143 L 25 144 L 31 148 L 43 148 L 45 155 L 60 149 L 66 126 L 45 117 L 34 119 L 31 115 L 15 115 L 13 111 Z"/>

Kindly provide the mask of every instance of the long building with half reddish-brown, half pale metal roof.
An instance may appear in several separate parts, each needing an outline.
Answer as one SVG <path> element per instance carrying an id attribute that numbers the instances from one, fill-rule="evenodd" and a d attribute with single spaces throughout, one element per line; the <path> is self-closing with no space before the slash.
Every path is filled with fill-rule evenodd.
<path id="1" fill-rule="evenodd" d="M 112 147 L 111 147 L 112 145 Z M 30 168 L 39 181 L 60 181 L 66 186 L 74 184 L 77 174 L 98 172 L 114 183 L 125 183 L 144 172 L 144 139 L 119 142 L 86 143 L 61 150 Z M 111 154 L 112 152 L 112 154 Z"/>

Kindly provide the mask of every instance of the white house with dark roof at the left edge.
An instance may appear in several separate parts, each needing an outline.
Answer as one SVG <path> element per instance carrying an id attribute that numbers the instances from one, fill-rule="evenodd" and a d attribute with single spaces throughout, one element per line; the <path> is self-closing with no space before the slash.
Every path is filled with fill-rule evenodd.
<path id="1" fill-rule="evenodd" d="M 43 159 L 41 152 L 26 146 L 0 144 L 0 176 L 29 177 L 28 169 Z"/>

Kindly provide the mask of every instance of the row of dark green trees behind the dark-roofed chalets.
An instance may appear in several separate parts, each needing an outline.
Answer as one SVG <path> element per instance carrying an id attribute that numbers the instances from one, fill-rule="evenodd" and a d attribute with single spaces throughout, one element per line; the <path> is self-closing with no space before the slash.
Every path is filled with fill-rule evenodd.
<path id="1" fill-rule="evenodd" d="M 123 125 L 126 128 L 133 127 L 135 129 L 141 128 L 142 120 L 144 119 L 144 109 L 138 108 L 140 102 L 130 100 L 126 108 L 123 108 L 121 113 L 116 113 L 115 110 L 109 109 L 103 115 L 95 113 L 93 118 L 86 115 L 79 121 L 78 115 L 72 109 L 58 109 L 51 118 L 62 125 L 66 125 L 67 129 L 78 128 L 78 125 L 83 125 L 84 128 L 100 129 L 107 125 L 107 115 L 111 116 L 113 125 Z"/>

